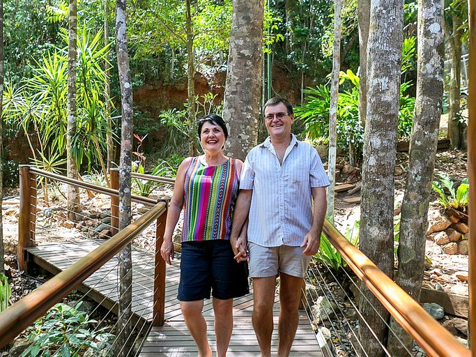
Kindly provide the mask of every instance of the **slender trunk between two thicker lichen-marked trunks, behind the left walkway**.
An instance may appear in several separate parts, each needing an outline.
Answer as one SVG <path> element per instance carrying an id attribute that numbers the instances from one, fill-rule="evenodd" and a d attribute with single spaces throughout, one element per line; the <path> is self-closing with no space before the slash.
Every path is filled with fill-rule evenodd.
<path id="1" fill-rule="evenodd" d="M 109 46 L 109 6 L 107 5 L 108 0 L 104 0 L 104 47 Z M 114 161 L 114 141 L 112 139 L 112 118 L 111 118 L 111 85 L 109 78 L 109 50 L 106 53 L 106 60 L 104 63 L 104 72 L 105 72 L 105 82 L 104 82 L 104 92 L 106 95 L 105 103 L 105 116 L 107 121 L 107 137 L 106 137 L 106 146 L 107 146 L 107 172 L 111 169 L 112 162 Z"/>

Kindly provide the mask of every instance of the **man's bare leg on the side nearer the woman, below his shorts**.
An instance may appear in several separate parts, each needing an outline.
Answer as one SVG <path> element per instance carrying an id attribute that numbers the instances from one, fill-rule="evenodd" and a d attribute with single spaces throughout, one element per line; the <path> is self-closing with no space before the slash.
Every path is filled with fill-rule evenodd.
<path id="1" fill-rule="evenodd" d="M 275 303 L 276 277 L 253 278 L 253 328 L 258 340 L 261 357 L 271 356 L 273 329 L 272 305 Z"/>

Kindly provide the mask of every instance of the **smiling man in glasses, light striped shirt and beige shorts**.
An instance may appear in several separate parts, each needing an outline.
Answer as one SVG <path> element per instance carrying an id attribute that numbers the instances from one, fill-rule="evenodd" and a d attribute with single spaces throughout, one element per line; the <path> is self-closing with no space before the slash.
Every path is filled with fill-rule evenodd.
<path id="1" fill-rule="evenodd" d="M 263 112 L 270 136 L 249 151 L 243 164 L 231 245 L 237 261 L 249 258 L 252 322 L 261 357 L 271 356 L 272 305 L 279 275 L 278 356 L 284 357 L 289 356 L 298 328 L 302 278 L 321 243 L 329 181 L 316 150 L 291 134 L 292 105 L 271 98 Z M 238 234 L 247 218 L 246 242 Z"/>

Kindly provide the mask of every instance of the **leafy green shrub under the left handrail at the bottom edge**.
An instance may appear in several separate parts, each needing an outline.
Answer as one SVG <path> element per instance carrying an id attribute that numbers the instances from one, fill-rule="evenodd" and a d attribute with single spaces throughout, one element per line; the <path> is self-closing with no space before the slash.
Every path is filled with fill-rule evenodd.
<path id="1" fill-rule="evenodd" d="M 112 340 L 114 335 L 106 332 L 107 327 L 95 330 L 98 321 L 79 311 L 80 305 L 58 303 L 27 328 L 26 339 L 31 344 L 22 357 L 82 356 L 86 349 L 97 351 L 102 343 Z"/>

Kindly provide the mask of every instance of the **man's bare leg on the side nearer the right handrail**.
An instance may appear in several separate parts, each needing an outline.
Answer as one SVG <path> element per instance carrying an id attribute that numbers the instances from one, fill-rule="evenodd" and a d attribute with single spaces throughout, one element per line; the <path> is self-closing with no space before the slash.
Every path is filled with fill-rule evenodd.
<path id="1" fill-rule="evenodd" d="M 299 324 L 299 303 L 301 297 L 302 278 L 279 274 L 279 342 L 278 357 L 289 356 L 295 332 Z"/>

